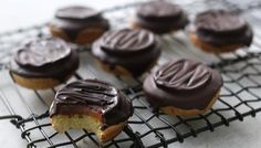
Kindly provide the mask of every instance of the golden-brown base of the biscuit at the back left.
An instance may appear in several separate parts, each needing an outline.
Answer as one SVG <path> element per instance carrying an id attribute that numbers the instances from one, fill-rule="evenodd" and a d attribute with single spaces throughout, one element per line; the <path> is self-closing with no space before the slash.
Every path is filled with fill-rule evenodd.
<path id="1" fill-rule="evenodd" d="M 70 41 L 72 43 L 76 43 L 76 44 L 90 44 L 93 43 L 96 39 L 98 39 L 106 30 L 102 29 L 102 28 L 88 28 L 85 29 L 81 32 L 77 33 L 77 36 L 75 40 L 71 40 L 66 33 L 64 31 L 62 31 L 61 29 L 58 29 L 53 25 L 49 27 L 50 32 L 54 35 L 54 36 L 59 36 L 65 41 Z"/>

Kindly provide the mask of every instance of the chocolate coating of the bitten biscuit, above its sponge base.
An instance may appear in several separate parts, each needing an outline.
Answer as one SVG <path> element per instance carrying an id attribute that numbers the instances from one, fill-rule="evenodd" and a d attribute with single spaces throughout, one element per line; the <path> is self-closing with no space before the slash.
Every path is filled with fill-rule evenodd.
<path id="1" fill-rule="evenodd" d="M 97 80 L 76 81 L 61 88 L 50 116 L 84 115 L 86 108 L 102 115 L 104 126 L 119 124 L 133 114 L 132 102 L 117 88 Z"/>

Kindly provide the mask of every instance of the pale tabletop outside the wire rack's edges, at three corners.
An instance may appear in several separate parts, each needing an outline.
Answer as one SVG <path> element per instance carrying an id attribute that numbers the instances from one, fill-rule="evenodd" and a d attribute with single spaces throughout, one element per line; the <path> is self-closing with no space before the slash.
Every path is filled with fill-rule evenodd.
<path id="1" fill-rule="evenodd" d="M 52 18 L 56 8 L 75 4 L 88 4 L 103 9 L 115 3 L 124 3 L 127 0 L 0 0 L 0 32 L 17 28 L 41 24 Z M 133 1 L 128 1 L 133 2 Z M 4 86 L 2 86 L 4 87 Z M 1 103 L 0 103 L 1 104 Z M 1 106 L 1 105 L 0 105 Z M 0 108 L 0 115 L 6 109 Z M 175 142 L 169 147 L 175 148 L 260 148 L 261 147 L 261 116 L 244 118 L 244 121 L 231 123 L 230 127 L 219 127 L 215 133 L 203 133 L 197 138 L 185 139 L 184 144 Z M 20 130 L 9 121 L 0 120 L 1 148 L 23 148 L 24 140 L 20 137 Z"/>

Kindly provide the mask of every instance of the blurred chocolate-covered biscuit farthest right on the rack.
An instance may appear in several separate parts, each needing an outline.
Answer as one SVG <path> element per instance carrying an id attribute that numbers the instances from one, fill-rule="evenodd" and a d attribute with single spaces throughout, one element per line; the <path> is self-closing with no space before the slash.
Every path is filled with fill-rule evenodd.
<path id="1" fill-rule="evenodd" d="M 212 53 L 231 52 L 250 46 L 253 32 L 246 20 L 225 10 L 197 14 L 190 28 L 190 39 L 201 50 Z"/>

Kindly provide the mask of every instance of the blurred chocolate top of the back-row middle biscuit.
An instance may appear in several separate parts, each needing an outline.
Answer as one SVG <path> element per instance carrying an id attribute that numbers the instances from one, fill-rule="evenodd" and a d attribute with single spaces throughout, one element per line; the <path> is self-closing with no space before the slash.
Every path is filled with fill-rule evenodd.
<path id="1" fill-rule="evenodd" d="M 137 9 L 137 15 L 148 20 L 177 19 L 182 14 L 182 10 L 173 3 L 166 1 L 152 1 L 142 4 Z M 169 21 L 169 20 L 168 20 Z"/>

